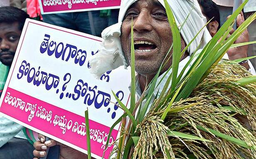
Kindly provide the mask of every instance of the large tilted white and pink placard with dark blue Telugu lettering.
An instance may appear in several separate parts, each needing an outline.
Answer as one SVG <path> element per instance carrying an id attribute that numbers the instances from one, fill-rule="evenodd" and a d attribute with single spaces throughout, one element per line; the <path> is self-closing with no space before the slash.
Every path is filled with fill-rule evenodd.
<path id="1" fill-rule="evenodd" d="M 112 91 L 129 105 L 130 70 L 119 67 L 99 80 L 89 61 L 102 39 L 27 19 L 2 92 L 0 112 L 35 132 L 87 153 L 89 112 L 92 157 L 101 159 L 110 127 L 124 111 Z M 128 106 L 129 107 L 129 106 Z M 110 142 L 117 139 L 115 126 Z M 113 146 L 109 145 L 104 158 Z"/>

